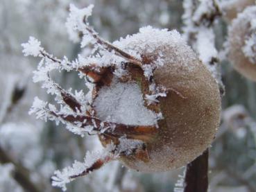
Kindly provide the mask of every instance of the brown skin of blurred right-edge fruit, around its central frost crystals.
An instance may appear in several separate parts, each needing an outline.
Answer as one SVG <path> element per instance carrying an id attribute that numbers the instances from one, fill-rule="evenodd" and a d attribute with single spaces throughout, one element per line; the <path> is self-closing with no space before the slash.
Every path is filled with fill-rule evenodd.
<path id="1" fill-rule="evenodd" d="M 246 55 L 244 55 L 242 49 L 245 45 L 246 37 L 251 33 L 250 19 L 254 19 L 255 17 L 256 6 L 246 8 L 243 13 L 239 14 L 237 19 L 232 21 L 232 25 L 228 31 L 228 59 L 232 62 L 234 69 L 253 81 L 256 81 L 256 64 L 250 62 Z"/>

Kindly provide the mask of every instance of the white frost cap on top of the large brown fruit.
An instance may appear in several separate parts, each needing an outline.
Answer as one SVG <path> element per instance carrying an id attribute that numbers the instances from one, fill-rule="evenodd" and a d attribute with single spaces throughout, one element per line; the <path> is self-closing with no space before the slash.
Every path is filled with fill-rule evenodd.
<path id="1" fill-rule="evenodd" d="M 130 53 L 131 55 L 143 60 L 144 64 L 150 64 L 151 67 L 160 67 L 167 62 L 162 51 L 169 47 L 176 47 L 176 50 L 184 51 L 185 40 L 182 39 L 177 30 L 168 30 L 146 26 L 139 28 L 139 33 L 127 35 L 125 38 L 113 42 L 119 49 Z M 181 48 L 181 49 L 180 49 Z M 178 54 L 178 53 L 176 53 Z M 146 67 L 145 71 L 149 71 Z"/>

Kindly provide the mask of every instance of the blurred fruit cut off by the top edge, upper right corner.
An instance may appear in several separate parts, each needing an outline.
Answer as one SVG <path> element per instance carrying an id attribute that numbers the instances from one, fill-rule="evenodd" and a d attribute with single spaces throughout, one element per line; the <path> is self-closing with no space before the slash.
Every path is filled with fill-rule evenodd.
<path id="1" fill-rule="evenodd" d="M 246 7 L 255 5 L 255 0 L 228 0 L 221 3 L 223 16 L 228 21 L 235 19 Z"/>

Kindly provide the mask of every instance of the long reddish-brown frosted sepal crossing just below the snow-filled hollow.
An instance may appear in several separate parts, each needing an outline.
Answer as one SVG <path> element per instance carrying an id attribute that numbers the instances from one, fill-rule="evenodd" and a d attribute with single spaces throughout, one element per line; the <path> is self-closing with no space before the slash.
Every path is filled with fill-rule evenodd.
<path id="1" fill-rule="evenodd" d="M 68 110 L 67 107 L 61 107 L 60 111 L 58 111 L 54 105 L 41 101 L 37 97 L 35 98 L 29 113 L 35 113 L 37 119 L 42 119 L 44 121 L 49 119 L 51 121 L 56 121 L 57 124 L 59 122 L 65 123 L 68 130 L 75 134 L 80 134 L 82 137 L 87 132 L 91 134 L 100 132 L 114 137 L 123 135 L 124 131 L 128 136 L 133 135 L 134 137 L 136 137 L 136 135 L 139 136 L 142 132 L 144 137 L 149 137 L 151 134 L 157 132 L 155 126 L 124 125 L 121 123 L 101 121 L 95 116 L 74 113 L 73 111 Z"/>

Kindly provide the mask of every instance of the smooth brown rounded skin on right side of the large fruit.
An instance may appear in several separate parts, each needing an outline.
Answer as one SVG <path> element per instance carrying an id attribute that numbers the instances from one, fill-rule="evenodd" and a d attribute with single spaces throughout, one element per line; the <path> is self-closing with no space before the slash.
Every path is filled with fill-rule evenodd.
<path id="1" fill-rule="evenodd" d="M 186 44 L 165 44 L 153 51 L 164 55 L 164 65 L 153 73 L 156 85 L 169 92 L 159 98 L 164 119 L 158 132 L 146 142 L 149 160 L 122 156 L 137 171 L 158 172 L 185 166 L 210 146 L 219 128 L 221 98 L 210 71 Z M 146 55 L 146 51 L 144 51 Z"/>

